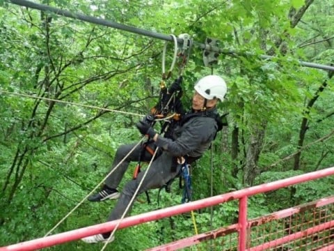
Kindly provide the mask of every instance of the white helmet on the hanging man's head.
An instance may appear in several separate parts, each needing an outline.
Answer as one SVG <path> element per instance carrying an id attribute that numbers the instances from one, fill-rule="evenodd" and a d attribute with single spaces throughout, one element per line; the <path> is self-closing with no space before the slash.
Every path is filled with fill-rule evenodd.
<path id="1" fill-rule="evenodd" d="M 202 77 L 195 85 L 195 90 L 207 100 L 218 98 L 224 100 L 224 96 L 228 91 L 228 87 L 224 79 L 217 75 L 209 75 Z"/>

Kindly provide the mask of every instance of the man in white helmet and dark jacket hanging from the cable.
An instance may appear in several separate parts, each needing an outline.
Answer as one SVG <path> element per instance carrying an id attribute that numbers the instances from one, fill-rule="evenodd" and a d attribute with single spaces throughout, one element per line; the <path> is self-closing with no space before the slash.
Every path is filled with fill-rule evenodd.
<path id="1" fill-rule="evenodd" d="M 171 89 L 173 89 L 172 91 L 180 91 L 180 88 L 175 87 L 174 84 Z M 175 127 L 172 128 L 171 132 L 166 132 L 165 137 L 155 132 L 150 123 L 145 120 L 136 124 L 136 127 L 143 135 L 148 135 L 152 139 L 150 146 L 153 149 L 157 146 L 162 149 L 161 153 L 152 162 L 138 194 L 153 188 L 161 188 L 170 179 L 175 178 L 180 172 L 180 165 L 176 163 L 177 157 L 184 157 L 189 164 L 193 160 L 200 158 L 214 140 L 216 132 L 221 130 L 222 123 L 216 105 L 218 100 L 223 101 L 224 99 L 227 91 L 225 81 L 219 76 L 209 75 L 202 77 L 196 83 L 194 89 L 191 111 L 184 114 L 180 121 L 175 123 Z M 111 169 L 116 167 L 134 146 L 135 144 L 120 146 L 116 151 Z M 129 205 L 138 188 L 138 184 L 143 178 L 145 172 L 140 172 L 136 179 L 129 181 L 125 185 L 121 193 L 118 192 L 118 185 L 129 166 L 129 162 L 138 161 L 138 156 L 141 153 L 144 153 L 141 155 L 142 161 L 151 160 L 152 154 L 148 151 L 142 152 L 142 150 L 142 146 L 137 146 L 106 179 L 102 190 L 88 197 L 89 201 L 104 201 L 105 199 L 118 199 L 119 197 L 116 206 L 111 211 L 111 215 L 109 215 L 108 221 L 122 217 L 125 208 Z M 109 236 L 110 233 L 97 234 L 82 238 L 82 241 L 86 243 L 106 242 Z M 113 238 L 109 241 L 113 241 Z"/>

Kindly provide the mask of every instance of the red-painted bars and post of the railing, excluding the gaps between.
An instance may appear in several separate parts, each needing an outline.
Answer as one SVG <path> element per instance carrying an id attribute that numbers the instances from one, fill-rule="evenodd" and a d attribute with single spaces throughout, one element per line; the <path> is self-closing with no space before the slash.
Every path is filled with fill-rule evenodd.
<path id="1" fill-rule="evenodd" d="M 330 176 L 334 174 L 334 167 L 322 169 L 317 172 L 311 172 L 308 174 L 302 174 L 299 176 L 294 176 L 291 178 L 285 178 L 280 181 L 274 181 L 271 183 L 265 183 L 262 185 L 256 185 L 251 188 L 246 188 L 243 190 L 238 190 L 234 192 L 228 192 L 224 195 L 217 195 L 214 197 L 209 197 L 207 199 L 200 199 L 198 201 L 191 201 L 187 204 L 182 204 L 178 206 L 171 206 L 168 208 L 160 209 L 157 211 L 152 211 L 149 213 L 143 213 L 141 215 L 134 215 L 132 217 L 128 217 L 123 219 L 120 222 L 119 228 L 125 228 L 130 227 L 134 225 L 139 225 L 144 222 L 150 222 L 153 220 L 159 220 L 161 218 L 170 217 L 173 215 L 177 215 L 180 213 L 186 213 L 190 211 L 194 211 L 200 208 L 205 208 L 209 206 L 215 206 L 217 204 L 225 203 L 227 201 L 232 201 L 235 199 L 239 200 L 239 222 L 235 225 L 231 225 L 230 227 L 218 229 L 215 231 L 210 231 L 209 233 L 205 234 L 198 234 L 196 236 L 192 236 L 190 238 L 185 238 L 180 241 L 176 241 L 174 243 L 169 243 L 164 246 L 160 246 L 157 248 L 152 248 L 151 250 L 176 250 L 178 248 L 185 248 L 191 245 L 195 245 L 196 243 L 200 243 L 202 241 L 206 241 L 208 239 L 214 239 L 218 238 L 219 236 L 227 236 L 232 235 L 230 237 L 230 245 L 225 245 L 225 241 L 223 241 L 223 246 L 226 246 L 226 250 L 271 250 L 273 247 L 282 247 L 282 245 L 285 245 L 286 243 L 290 243 L 291 241 L 296 241 L 297 239 L 301 240 L 305 236 L 311 236 L 315 235 L 315 233 L 320 233 L 324 230 L 329 230 L 330 233 L 327 240 L 331 240 L 333 238 L 333 234 L 331 232 L 334 228 L 334 219 L 333 215 L 329 214 L 330 217 L 326 218 L 326 222 L 321 222 L 319 220 L 319 224 L 309 227 L 308 229 L 302 229 L 301 231 L 296 231 L 293 234 L 287 234 L 286 236 L 278 236 L 276 239 L 264 242 L 262 241 L 259 245 L 251 245 L 253 237 L 250 238 L 252 235 L 252 227 L 255 227 L 254 222 L 266 222 L 266 219 L 272 218 L 275 220 L 278 220 L 283 217 L 284 215 L 289 215 L 286 217 L 291 217 L 291 215 L 294 215 L 296 213 L 301 213 L 302 206 L 289 208 L 285 211 L 276 212 L 272 215 L 267 215 L 259 219 L 255 220 L 247 220 L 247 199 L 250 196 L 260 194 L 262 192 L 269 192 L 273 190 L 277 190 L 279 188 L 285 188 L 289 185 L 296 185 L 299 183 L 303 183 L 306 181 L 312 181 L 317 178 L 324 178 L 326 176 Z M 326 201 L 326 203 L 324 202 Z M 325 206 L 333 204 L 333 197 L 329 197 L 326 199 L 320 199 L 319 201 L 316 201 L 315 206 L 312 206 L 312 208 L 319 208 L 321 205 Z M 299 209 L 298 209 L 299 208 Z M 310 206 L 306 206 L 305 208 L 310 208 Z M 327 209 L 326 209 L 327 210 Z M 333 210 L 331 210 L 333 211 Z M 322 221 L 324 221 L 325 218 L 322 218 Z M 106 222 L 100 225 L 94 225 L 91 227 L 84 227 L 81 229 L 76 229 L 72 231 L 67 231 L 61 234 L 55 234 L 53 236 L 47 236 L 45 238 L 38 238 L 31 241 L 25 241 L 22 243 L 17 243 L 14 245 L 8 245 L 6 247 L 0 248 L 0 251 L 3 250 L 36 250 L 40 248 L 46 248 L 51 245 L 58 245 L 61 243 L 65 243 L 68 241 L 75 241 L 79 238 L 84 238 L 86 236 L 91 236 L 94 234 L 100 234 L 105 231 L 112 231 L 116 225 L 118 225 L 118 220 L 114 220 L 112 222 Z M 253 225 L 253 226 L 252 226 Z M 256 238 L 254 238 L 256 239 Z M 257 241 L 259 242 L 259 241 Z M 273 244 L 276 243 L 276 244 Z M 326 243 L 327 246 L 321 247 L 321 250 L 331 250 L 331 247 L 333 247 L 332 243 Z M 223 250 L 223 246 L 219 246 Z M 299 248 L 301 245 L 299 245 Z M 327 248 L 327 249 L 326 249 Z M 329 249 L 328 249 L 329 248 Z M 285 250 L 285 249 L 277 249 L 277 250 Z M 293 249 L 287 249 L 287 250 L 293 250 Z M 305 249 L 307 250 L 307 249 Z"/>

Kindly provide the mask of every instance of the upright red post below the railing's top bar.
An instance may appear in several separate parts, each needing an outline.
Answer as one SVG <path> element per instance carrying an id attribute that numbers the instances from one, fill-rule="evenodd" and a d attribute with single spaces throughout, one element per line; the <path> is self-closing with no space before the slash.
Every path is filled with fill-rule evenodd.
<path id="1" fill-rule="evenodd" d="M 246 250 L 247 238 L 247 196 L 239 199 L 239 243 L 238 251 Z"/>

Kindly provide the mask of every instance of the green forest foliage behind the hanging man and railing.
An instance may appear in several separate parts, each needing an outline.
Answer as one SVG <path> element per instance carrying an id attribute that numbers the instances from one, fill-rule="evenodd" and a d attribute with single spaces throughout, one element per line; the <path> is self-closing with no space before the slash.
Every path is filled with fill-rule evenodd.
<path id="1" fill-rule="evenodd" d="M 300 64 L 334 65 L 332 1 L 35 2 L 157 33 L 188 33 L 198 43 L 219 40 L 216 65 L 205 67 L 193 46 L 184 69 L 188 105 L 196 79 L 213 72 L 228 82 L 219 105 L 228 126 L 193 168 L 194 199 L 333 166 L 333 72 Z M 10 1 L 0 1 L 0 40 L 2 246 L 46 234 L 100 183 L 117 147 L 141 139 L 134 124 L 157 102 L 164 41 Z M 170 43 L 166 64 L 172 51 Z M 175 77 L 177 69 L 170 82 Z M 132 213 L 180 204 L 176 183 L 171 194 L 160 193 L 159 205 L 152 191 L 152 204 L 136 202 Z M 333 195 L 333 183 L 329 177 L 253 197 L 248 217 Z M 104 222 L 113 203 L 86 201 L 55 232 Z M 198 229 L 230 225 L 237 211 L 231 202 L 217 206 L 212 222 L 205 209 Z M 112 248 L 143 250 L 191 234 L 191 220 L 178 215 L 120 230 Z M 49 250 L 89 248 L 95 250 L 76 241 Z"/>

